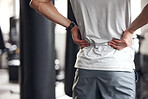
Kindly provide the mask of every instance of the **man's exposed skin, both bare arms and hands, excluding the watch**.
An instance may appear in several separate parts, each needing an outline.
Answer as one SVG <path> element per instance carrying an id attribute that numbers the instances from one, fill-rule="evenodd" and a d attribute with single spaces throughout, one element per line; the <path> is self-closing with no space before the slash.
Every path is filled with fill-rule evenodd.
<path id="1" fill-rule="evenodd" d="M 54 5 L 52 0 L 31 0 L 30 7 L 48 18 L 49 20 L 60 24 L 64 27 L 68 27 L 71 23 L 69 19 L 61 15 Z M 130 46 L 130 42 L 134 32 L 140 27 L 148 23 L 148 4 L 142 10 L 141 14 L 131 23 L 131 25 L 125 30 L 121 40 L 112 39 L 108 44 L 117 50 L 122 50 L 125 47 Z M 88 47 L 90 44 L 86 40 L 81 39 L 80 30 L 78 26 L 74 26 L 71 29 L 72 38 L 74 43 L 80 46 L 80 48 Z"/>

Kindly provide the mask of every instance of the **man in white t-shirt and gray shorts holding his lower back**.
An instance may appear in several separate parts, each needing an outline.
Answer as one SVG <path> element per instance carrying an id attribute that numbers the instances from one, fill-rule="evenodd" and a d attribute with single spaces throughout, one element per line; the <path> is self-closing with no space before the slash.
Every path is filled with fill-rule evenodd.
<path id="1" fill-rule="evenodd" d="M 51 0 L 30 6 L 71 31 L 80 46 L 74 99 L 135 99 L 132 36 L 148 23 L 148 5 L 131 22 L 131 0 L 71 0 L 78 26 L 62 16 Z"/>

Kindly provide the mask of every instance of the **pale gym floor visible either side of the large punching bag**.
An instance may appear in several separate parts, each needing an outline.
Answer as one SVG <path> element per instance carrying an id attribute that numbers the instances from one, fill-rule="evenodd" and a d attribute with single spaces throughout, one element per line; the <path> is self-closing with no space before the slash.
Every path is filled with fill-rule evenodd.
<path id="1" fill-rule="evenodd" d="M 6 69 L 0 69 L 0 99 L 20 99 L 19 83 L 10 83 Z M 56 82 L 56 99 L 72 99 L 64 93 L 64 83 Z"/>

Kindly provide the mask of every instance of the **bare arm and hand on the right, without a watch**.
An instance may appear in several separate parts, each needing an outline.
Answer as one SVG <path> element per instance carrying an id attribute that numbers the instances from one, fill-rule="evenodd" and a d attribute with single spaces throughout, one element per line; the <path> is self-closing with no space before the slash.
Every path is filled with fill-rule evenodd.
<path id="1" fill-rule="evenodd" d="M 134 32 L 148 23 L 148 4 L 144 7 L 140 15 L 131 23 L 131 25 L 125 30 L 122 39 L 113 39 L 109 41 L 109 45 L 117 50 L 121 50 L 130 46 L 132 36 Z"/>

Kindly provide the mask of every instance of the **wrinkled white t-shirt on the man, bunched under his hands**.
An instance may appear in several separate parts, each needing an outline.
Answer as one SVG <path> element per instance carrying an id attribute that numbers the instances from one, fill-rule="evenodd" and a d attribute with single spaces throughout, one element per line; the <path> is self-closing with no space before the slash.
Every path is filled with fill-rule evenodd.
<path id="1" fill-rule="evenodd" d="M 121 39 L 131 23 L 131 0 L 71 0 L 82 39 L 91 45 L 80 49 L 75 67 L 90 70 L 132 71 L 134 49 L 113 49 L 112 38 Z"/>

